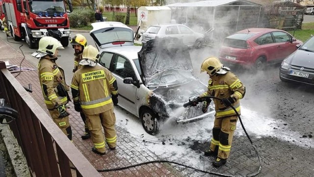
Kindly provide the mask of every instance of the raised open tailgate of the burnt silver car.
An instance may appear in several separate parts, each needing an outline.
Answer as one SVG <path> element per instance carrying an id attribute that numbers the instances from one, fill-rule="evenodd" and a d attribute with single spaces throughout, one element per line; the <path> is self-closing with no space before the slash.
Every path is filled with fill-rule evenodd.
<path id="1" fill-rule="evenodd" d="M 97 22 L 91 24 L 89 32 L 96 45 L 101 48 L 134 45 L 133 30 L 120 22 Z"/>

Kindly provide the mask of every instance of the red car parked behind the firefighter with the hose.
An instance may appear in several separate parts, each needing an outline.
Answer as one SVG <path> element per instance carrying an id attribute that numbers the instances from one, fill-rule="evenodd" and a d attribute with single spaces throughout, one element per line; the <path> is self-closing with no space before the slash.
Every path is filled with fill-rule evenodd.
<path id="1" fill-rule="evenodd" d="M 237 64 L 262 69 L 266 63 L 278 63 L 292 54 L 296 40 L 280 29 L 243 29 L 226 37 L 219 49 L 219 59 L 225 64 Z"/>

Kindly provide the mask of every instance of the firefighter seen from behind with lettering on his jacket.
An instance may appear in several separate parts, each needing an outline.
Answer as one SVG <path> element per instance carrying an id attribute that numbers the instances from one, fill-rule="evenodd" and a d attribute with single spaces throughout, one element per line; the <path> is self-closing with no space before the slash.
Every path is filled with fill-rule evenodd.
<path id="1" fill-rule="evenodd" d="M 118 85 L 111 72 L 97 64 L 98 50 L 89 45 L 79 62 L 83 65 L 73 76 L 71 90 L 76 111 L 82 110 L 86 117 L 94 147 L 92 151 L 104 155 L 105 142 L 109 148 L 116 148 L 115 114 L 113 105 L 118 104 Z M 102 132 L 104 127 L 105 138 Z"/>

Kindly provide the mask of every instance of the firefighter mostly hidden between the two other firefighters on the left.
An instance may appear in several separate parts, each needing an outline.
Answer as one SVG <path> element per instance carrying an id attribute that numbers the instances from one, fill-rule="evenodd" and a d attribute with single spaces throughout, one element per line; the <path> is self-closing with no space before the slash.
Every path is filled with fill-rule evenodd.
<path id="1" fill-rule="evenodd" d="M 82 60 L 82 54 L 84 47 L 87 46 L 87 40 L 82 34 L 77 34 L 75 35 L 72 40 L 71 40 L 71 45 L 75 51 L 74 53 L 74 69 L 73 72 L 77 71 L 79 68 L 82 67 L 82 65 L 79 65 L 79 61 Z M 77 110 L 76 110 L 77 111 Z M 86 125 L 86 118 L 83 112 L 79 112 L 80 117 L 82 118 L 84 122 L 84 134 L 81 136 L 83 140 L 89 139 L 90 138 L 90 133 L 88 130 L 88 127 Z"/>

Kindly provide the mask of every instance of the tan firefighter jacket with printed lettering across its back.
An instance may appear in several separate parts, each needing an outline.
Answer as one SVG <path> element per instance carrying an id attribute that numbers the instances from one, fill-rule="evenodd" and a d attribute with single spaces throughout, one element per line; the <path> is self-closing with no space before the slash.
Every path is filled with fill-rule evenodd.
<path id="1" fill-rule="evenodd" d="M 117 81 L 101 66 L 83 66 L 74 73 L 71 90 L 74 102 L 80 102 L 86 115 L 104 113 L 113 107 L 111 94 L 118 94 Z"/>

